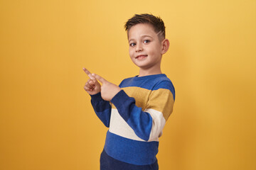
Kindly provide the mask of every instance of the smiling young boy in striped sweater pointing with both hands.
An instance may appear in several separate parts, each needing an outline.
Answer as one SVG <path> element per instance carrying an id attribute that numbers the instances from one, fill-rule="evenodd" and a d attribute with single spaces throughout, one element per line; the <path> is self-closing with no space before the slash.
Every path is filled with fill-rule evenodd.
<path id="1" fill-rule="evenodd" d="M 90 77 L 84 89 L 91 96 L 95 113 L 109 128 L 100 169 L 155 170 L 159 169 L 159 137 L 175 100 L 174 86 L 160 67 L 169 40 L 164 22 L 151 14 L 134 15 L 125 30 L 129 56 L 139 67 L 138 76 L 117 86 L 83 68 Z"/>

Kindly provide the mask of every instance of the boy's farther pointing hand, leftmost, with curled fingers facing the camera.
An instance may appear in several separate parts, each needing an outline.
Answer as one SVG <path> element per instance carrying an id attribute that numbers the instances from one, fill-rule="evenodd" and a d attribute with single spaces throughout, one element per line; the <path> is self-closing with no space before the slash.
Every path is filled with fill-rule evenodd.
<path id="1" fill-rule="evenodd" d="M 85 68 L 82 69 L 85 71 L 88 77 L 90 77 L 84 86 L 85 91 L 87 91 L 87 93 L 90 95 L 100 93 L 100 83 L 97 81 L 97 79 L 95 79 L 95 77 L 92 76 L 89 70 Z"/>

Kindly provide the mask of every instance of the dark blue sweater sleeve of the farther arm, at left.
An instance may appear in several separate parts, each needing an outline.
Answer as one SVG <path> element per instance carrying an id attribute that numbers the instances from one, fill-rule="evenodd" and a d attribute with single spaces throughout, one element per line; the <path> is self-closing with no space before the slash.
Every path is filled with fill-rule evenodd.
<path id="1" fill-rule="evenodd" d="M 98 118 L 102 123 L 109 128 L 110 127 L 110 115 L 111 115 L 111 105 L 109 101 L 103 100 L 101 93 L 90 95 L 92 107 Z"/>

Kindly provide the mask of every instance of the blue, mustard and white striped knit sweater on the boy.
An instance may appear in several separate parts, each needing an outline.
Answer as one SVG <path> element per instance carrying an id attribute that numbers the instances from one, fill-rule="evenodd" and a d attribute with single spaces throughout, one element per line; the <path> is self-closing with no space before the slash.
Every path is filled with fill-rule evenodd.
<path id="1" fill-rule="evenodd" d="M 98 118 L 109 128 L 101 170 L 159 169 L 159 137 L 173 111 L 175 90 L 166 74 L 124 79 L 112 100 L 91 95 Z"/>

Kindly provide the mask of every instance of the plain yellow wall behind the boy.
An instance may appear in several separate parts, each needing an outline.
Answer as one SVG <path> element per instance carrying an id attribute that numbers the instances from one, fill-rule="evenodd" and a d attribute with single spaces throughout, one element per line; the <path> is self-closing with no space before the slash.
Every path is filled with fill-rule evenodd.
<path id="1" fill-rule="evenodd" d="M 256 169 L 256 1 L 0 1 L 0 169 L 99 169 L 107 128 L 83 86 L 139 73 L 124 22 L 161 16 L 176 102 L 160 170 Z"/>

